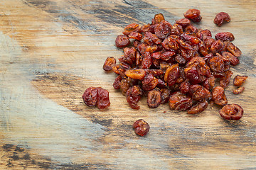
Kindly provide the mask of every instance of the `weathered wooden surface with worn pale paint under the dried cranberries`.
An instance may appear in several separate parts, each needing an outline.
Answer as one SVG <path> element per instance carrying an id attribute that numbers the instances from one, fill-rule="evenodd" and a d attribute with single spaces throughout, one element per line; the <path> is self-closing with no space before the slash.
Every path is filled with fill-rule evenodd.
<path id="1" fill-rule="evenodd" d="M 226 90 L 245 111 L 236 123 L 213 105 L 187 115 L 143 99 L 134 111 L 113 89 L 116 75 L 102 70 L 122 55 L 114 40 L 124 26 L 160 12 L 174 23 L 188 8 L 201 10 L 198 28 L 230 31 L 242 51 L 232 71 L 249 77 L 245 91 Z M 0 1 L 0 169 L 256 169 L 255 8 L 254 0 Z M 218 28 L 220 11 L 232 21 Z M 89 86 L 110 91 L 107 111 L 82 103 Z M 132 130 L 139 118 L 151 126 L 146 137 Z"/>

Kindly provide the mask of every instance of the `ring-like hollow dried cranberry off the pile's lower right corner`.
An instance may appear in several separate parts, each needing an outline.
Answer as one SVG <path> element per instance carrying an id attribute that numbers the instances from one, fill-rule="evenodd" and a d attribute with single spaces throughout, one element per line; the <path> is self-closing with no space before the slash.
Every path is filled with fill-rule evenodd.
<path id="1" fill-rule="evenodd" d="M 243 109 L 238 104 L 227 104 L 219 111 L 220 116 L 225 120 L 240 120 Z"/>

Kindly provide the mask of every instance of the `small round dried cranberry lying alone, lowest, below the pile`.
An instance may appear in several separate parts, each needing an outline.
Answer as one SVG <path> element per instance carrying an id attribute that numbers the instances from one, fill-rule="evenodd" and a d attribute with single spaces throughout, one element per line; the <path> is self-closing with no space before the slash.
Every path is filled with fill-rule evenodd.
<path id="1" fill-rule="evenodd" d="M 132 125 L 134 132 L 139 136 L 145 136 L 149 132 L 149 124 L 145 120 L 139 119 Z"/>

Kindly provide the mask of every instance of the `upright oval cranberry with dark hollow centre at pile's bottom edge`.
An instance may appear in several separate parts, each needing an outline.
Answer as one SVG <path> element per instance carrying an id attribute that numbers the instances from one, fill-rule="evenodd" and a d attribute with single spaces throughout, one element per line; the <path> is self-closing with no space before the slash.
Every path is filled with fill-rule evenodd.
<path id="1" fill-rule="evenodd" d="M 149 91 L 146 103 L 149 108 L 157 108 L 161 104 L 161 92 L 156 90 Z"/>

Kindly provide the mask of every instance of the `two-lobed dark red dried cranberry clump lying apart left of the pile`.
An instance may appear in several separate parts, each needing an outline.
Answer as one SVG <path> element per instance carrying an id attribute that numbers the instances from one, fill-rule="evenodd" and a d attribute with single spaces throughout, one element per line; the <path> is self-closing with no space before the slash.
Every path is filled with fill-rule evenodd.
<path id="1" fill-rule="evenodd" d="M 82 100 L 87 106 L 97 106 L 100 109 L 110 106 L 109 92 L 101 87 L 89 87 L 82 95 Z"/>

